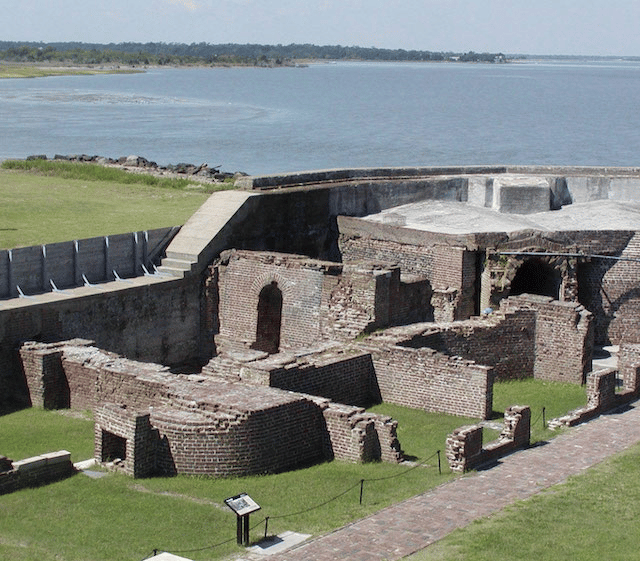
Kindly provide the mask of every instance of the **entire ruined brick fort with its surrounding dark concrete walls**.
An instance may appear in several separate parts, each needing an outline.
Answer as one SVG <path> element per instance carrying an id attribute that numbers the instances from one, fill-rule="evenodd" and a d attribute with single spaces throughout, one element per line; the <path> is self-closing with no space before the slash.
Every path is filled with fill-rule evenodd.
<path id="1" fill-rule="evenodd" d="M 96 459 L 133 476 L 398 462 L 370 404 L 487 419 L 497 380 L 591 383 L 596 345 L 637 396 L 640 219 L 587 218 L 640 172 L 514 171 L 243 178 L 155 274 L 0 301 L 0 388 L 92 409 Z"/>

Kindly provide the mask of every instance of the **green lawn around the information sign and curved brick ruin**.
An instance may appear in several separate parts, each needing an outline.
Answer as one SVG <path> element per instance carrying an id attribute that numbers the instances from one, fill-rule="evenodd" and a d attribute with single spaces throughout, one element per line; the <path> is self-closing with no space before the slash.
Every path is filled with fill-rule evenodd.
<path id="1" fill-rule="evenodd" d="M 495 399 L 541 393 L 540 382 L 497 384 Z M 521 387 L 521 391 L 518 390 Z M 551 384 L 550 403 L 555 390 Z M 580 398 L 577 400 L 579 401 Z M 580 403 L 571 403 L 577 407 Z M 398 434 L 412 465 L 327 462 L 291 472 L 211 479 L 178 476 L 132 479 L 108 474 L 65 481 L 0 497 L 0 559 L 99 561 L 143 559 L 154 549 L 200 560 L 243 550 L 235 543 L 235 516 L 224 499 L 248 493 L 262 510 L 251 516 L 251 538 L 285 530 L 318 535 L 422 493 L 454 477 L 444 441 L 454 428 L 477 422 L 382 404 L 373 411 L 399 421 Z M 65 448 L 78 461 L 92 456 L 93 423 L 87 414 L 25 409 L 0 416 L 0 453 L 21 459 Z M 442 475 L 436 452 L 442 450 Z M 364 479 L 360 504 L 360 481 Z M 443 557 L 448 559 L 448 557 Z"/>

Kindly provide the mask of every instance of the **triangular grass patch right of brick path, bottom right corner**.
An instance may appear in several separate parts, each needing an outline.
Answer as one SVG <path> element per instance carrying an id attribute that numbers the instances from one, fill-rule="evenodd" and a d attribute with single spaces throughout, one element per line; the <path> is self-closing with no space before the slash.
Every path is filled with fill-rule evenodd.
<path id="1" fill-rule="evenodd" d="M 638 559 L 639 518 L 640 445 L 636 445 L 407 559 Z"/>

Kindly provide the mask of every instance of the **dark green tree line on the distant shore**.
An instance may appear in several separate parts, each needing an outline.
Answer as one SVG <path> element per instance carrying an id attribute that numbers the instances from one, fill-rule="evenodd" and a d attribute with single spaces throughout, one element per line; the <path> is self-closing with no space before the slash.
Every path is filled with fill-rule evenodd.
<path id="1" fill-rule="evenodd" d="M 17 62 L 121 63 L 130 65 L 280 65 L 300 60 L 506 62 L 502 53 L 432 52 L 311 44 L 18 43 L 0 41 L 0 59 Z"/>

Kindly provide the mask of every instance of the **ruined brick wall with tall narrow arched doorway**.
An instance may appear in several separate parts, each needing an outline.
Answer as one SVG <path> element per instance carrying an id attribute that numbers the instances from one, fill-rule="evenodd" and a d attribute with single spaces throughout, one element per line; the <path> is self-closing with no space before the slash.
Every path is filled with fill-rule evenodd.
<path id="1" fill-rule="evenodd" d="M 351 339 L 416 317 L 415 308 L 395 305 L 400 291 L 403 296 L 409 295 L 410 301 L 422 304 L 427 293 L 420 282 L 401 286 L 397 267 L 228 252 L 219 266 L 220 341 L 255 346 L 260 293 L 270 285 L 282 294 L 281 349 Z M 213 306 L 209 308 L 214 314 Z"/>

